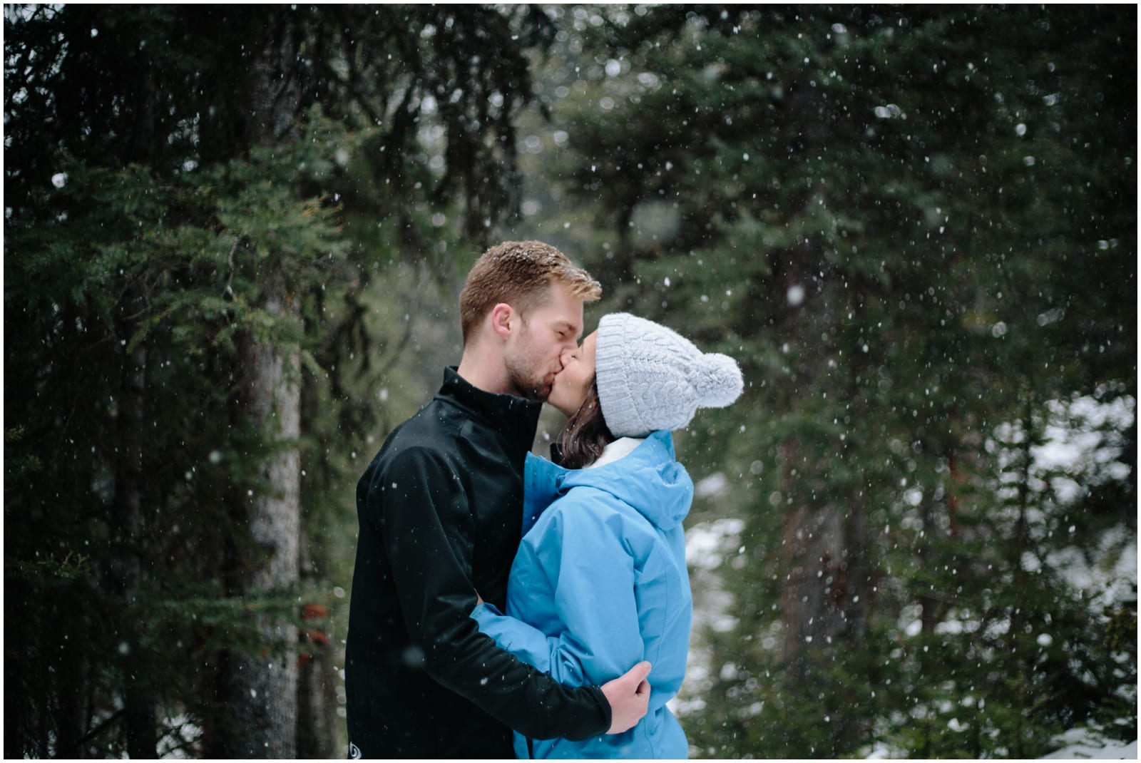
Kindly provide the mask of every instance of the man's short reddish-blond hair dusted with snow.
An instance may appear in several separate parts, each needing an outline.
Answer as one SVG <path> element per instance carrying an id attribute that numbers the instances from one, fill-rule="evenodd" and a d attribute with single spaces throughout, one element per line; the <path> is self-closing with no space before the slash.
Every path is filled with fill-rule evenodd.
<path id="1" fill-rule="evenodd" d="M 593 302 L 602 294 L 602 287 L 589 273 L 550 244 L 504 241 L 488 249 L 476 260 L 460 292 L 463 343 L 496 305 L 507 302 L 526 315 L 552 283 L 565 285 L 583 302 Z"/>

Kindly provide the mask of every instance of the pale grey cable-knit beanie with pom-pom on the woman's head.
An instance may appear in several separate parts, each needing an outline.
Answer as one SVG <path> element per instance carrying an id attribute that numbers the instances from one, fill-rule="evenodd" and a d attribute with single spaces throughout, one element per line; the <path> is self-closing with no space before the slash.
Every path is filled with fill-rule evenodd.
<path id="1" fill-rule="evenodd" d="M 702 352 L 680 334 L 628 312 L 598 323 L 594 378 L 602 419 L 615 437 L 686 427 L 697 408 L 721 408 L 741 395 L 737 362 Z"/>

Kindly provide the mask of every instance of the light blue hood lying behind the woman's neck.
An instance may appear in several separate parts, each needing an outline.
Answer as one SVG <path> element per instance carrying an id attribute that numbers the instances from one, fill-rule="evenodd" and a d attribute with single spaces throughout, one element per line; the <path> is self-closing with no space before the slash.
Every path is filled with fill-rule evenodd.
<path id="1" fill-rule="evenodd" d="M 681 523 L 694 497 L 694 482 L 674 460 L 673 438 L 667 431 L 653 432 L 629 455 L 592 469 L 564 469 L 527 454 L 524 534 L 552 501 L 573 487 L 609 493 L 663 530 Z"/>

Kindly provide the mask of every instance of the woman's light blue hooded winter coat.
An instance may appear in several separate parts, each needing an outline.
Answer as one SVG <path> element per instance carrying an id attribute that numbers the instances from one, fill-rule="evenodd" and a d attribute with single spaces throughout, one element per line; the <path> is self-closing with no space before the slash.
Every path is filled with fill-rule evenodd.
<path id="1" fill-rule="evenodd" d="M 687 757 L 686 734 L 665 706 L 685 677 L 693 618 L 681 520 L 694 484 L 674 460 L 673 439 L 654 432 L 593 469 L 528 455 L 525 479 L 508 616 L 482 604 L 472 612 L 479 630 L 568 685 L 601 685 L 644 659 L 653 669 L 649 711 L 630 731 L 529 740 L 529 748 L 516 733 L 516 755 Z"/>

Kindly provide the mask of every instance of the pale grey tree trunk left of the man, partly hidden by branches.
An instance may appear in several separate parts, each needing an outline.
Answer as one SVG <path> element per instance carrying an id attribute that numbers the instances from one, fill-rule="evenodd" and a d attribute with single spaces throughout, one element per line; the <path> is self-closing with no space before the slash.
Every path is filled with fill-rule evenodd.
<path id="1" fill-rule="evenodd" d="M 297 90 L 290 74 L 296 64 L 293 38 L 282 33 L 268 39 L 278 41 L 260 51 L 250 72 L 248 128 L 264 146 L 297 137 Z M 269 273 L 258 274 L 265 310 L 300 319 L 297 295 L 288 291 L 282 266 L 266 267 Z M 257 555 L 238 552 L 237 567 L 229 573 L 230 589 L 257 600 L 294 587 L 300 577 L 300 349 L 242 332 L 237 368 L 238 419 L 252 423 L 270 446 L 259 474 L 265 492 L 249 496 L 238 509 L 245 512 Z M 253 655 L 232 650 L 220 659 L 220 693 L 233 712 L 217 719 L 211 754 L 292 758 L 297 756 L 298 630 L 289 618 L 267 614 L 256 614 L 253 624 L 266 647 Z"/>

